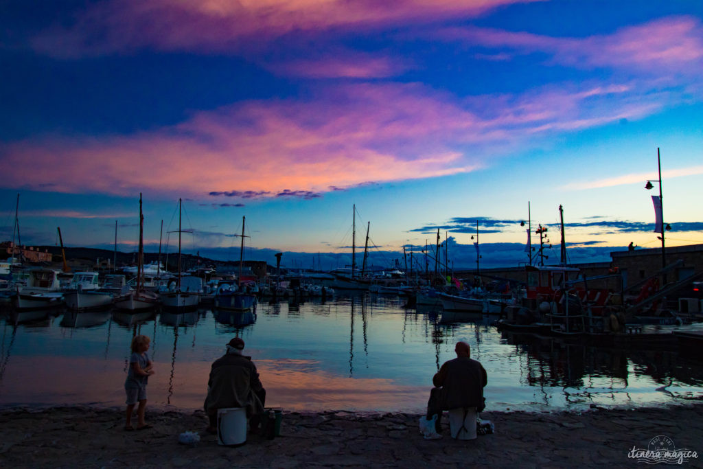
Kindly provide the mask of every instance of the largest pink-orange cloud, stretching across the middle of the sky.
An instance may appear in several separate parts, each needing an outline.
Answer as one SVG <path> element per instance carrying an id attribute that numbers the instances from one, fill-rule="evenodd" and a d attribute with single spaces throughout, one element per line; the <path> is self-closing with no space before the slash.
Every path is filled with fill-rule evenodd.
<path id="1" fill-rule="evenodd" d="M 420 84 L 354 84 L 309 101 L 238 103 L 130 136 L 15 142 L 0 150 L 0 162 L 6 187 L 40 191 L 323 193 L 469 172 L 496 149 L 642 117 L 672 98 L 648 99 L 625 85 L 561 84 L 458 101 Z"/>

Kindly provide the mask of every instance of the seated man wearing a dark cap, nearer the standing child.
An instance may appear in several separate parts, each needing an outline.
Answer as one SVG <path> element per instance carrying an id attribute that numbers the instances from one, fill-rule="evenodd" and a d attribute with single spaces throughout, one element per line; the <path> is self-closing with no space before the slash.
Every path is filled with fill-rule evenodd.
<path id="1" fill-rule="evenodd" d="M 227 352 L 215 360 L 207 381 L 205 412 L 209 417 L 210 433 L 217 432 L 217 409 L 245 407 L 250 428 L 254 431 L 264 413 L 266 390 L 259 381 L 257 367 L 251 356 L 242 354 L 244 341 L 233 338 L 227 344 Z"/>

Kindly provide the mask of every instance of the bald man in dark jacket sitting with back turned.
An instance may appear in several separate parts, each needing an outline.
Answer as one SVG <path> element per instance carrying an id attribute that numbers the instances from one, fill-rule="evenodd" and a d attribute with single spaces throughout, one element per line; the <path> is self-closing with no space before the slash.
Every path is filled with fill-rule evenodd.
<path id="1" fill-rule="evenodd" d="M 486 370 L 470 358 L 471 349 L 466 342 L 454 347 L 456 359 L 446 361 L 432 378 L 434 389 L 427 401 L 427 420 L 437 415 L 435 427 L 440 430 L 441 412 L 451 409 L 475 407 L 484 409 L 483 388 L 488 383 Z"/>

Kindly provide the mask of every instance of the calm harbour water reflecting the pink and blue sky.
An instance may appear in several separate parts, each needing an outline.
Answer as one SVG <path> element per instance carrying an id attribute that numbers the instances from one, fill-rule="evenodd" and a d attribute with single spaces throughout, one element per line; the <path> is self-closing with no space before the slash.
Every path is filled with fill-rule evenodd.
<path id="1" fill-rule="evenodd" d="M 5 311 L 6 312 L 6 311 Z M 209 365 L 235 335 L 267 405 L 288 410 L 422 412 L 457 340 L 489 373 L 489 409 L 583 409 L 703 397 L 703 366 L 676 351 L 596 349 L 498 333 L 493 318 L 405 309 L 397 297 L 259 303 L 255 313 L 39 311 L 4 314 L 0 405 L 122 405 L 129 343 L 152 338 L 150 405 L 199 408 Z"/>

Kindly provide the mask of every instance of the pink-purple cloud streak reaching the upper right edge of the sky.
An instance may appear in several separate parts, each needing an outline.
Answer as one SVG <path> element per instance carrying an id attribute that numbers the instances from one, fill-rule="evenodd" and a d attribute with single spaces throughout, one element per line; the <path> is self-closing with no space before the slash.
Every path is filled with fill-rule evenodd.
<path id="1" fill-rule="evenodd" d="M 703 26 L 698 18 L 677 16 L 585 38 L 547 37 L 487 28 L 445 28 L 438 37 L 489 47 L 553 54 L 556 63 L 579 68 L 661 69 L 697 75 L 703 68 Z"/>

